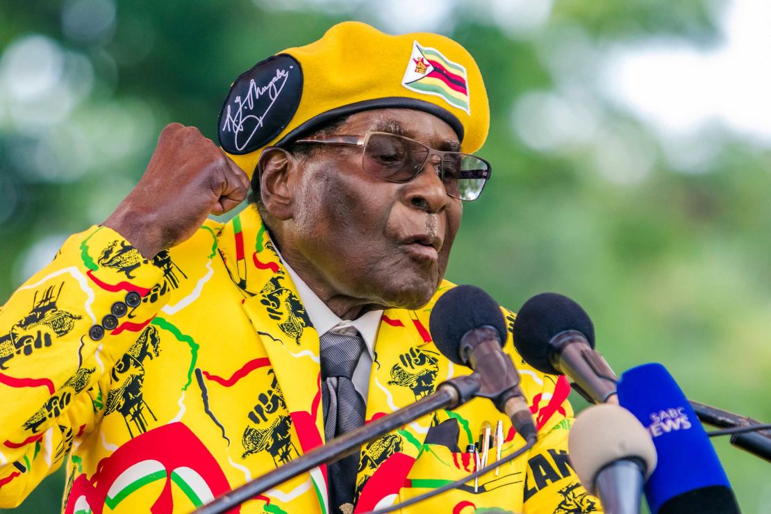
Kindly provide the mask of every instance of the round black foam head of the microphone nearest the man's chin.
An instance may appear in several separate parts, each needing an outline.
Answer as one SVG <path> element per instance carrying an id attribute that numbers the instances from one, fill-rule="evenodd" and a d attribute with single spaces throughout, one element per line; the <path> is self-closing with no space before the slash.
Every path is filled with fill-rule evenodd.
<path id="1" fill-rule="evenodd" d="M 497 301 L 474 286 L 453 287 L 436 301 L 429 318 L 429 331 L 436 348 L 458 365 L 466 365 L 460 355 L 460 340 L 474 328 L 489 326 L 506 341 L 506 320 Z"/>

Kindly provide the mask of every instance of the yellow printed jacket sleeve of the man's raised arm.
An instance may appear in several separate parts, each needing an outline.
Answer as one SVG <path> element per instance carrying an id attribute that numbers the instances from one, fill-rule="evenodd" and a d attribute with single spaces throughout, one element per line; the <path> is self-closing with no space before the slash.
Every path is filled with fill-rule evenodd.
<path id="1" fill-rule="evenodd" d="M 19 505 L 101 419 L 113 365 L 163 304 L 160 262 L 92 227 L 0 308 L 0 507 Z"/>

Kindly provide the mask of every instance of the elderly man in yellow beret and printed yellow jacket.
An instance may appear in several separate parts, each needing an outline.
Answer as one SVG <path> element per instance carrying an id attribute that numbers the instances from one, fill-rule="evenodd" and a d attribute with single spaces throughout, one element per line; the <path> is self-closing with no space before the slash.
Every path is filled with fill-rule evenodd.
<path id="1" fill-rule="evenodd" d="M 348 22 L 244 72 L 221 148 L 163 129 L 116 211 L 0 312 L 0 506 L 66 462 L 65 512 L 188 512 L 467 373 L 426 327 L 452 287 L 462 203 L 490 178 L 470 154 L 488 125 L 479 69 L 456 42 Z M 250 206 L 207 220 L 247 197 L 249 176 Z M 567 382 L 507 351 L 537 445 L 409 512 L 598 508 L 567 459 Z M 473 472 L 480 429 L 499 421 L 509 455 L 523 439 L 477 398 L 241 509 L 412 498 Z"/>

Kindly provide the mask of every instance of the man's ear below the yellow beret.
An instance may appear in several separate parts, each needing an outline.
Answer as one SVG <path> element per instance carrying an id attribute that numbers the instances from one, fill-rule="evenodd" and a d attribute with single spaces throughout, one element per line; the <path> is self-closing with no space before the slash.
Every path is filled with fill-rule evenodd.
<path id="1" fill-rule="evenodd" d="M 295 159 L 286 150 L 270 146 L 263 150 L 258 163 L 260 193 L 265 210 L 277 220 L 292 217 L 292 195 L 289 173 Z"/>

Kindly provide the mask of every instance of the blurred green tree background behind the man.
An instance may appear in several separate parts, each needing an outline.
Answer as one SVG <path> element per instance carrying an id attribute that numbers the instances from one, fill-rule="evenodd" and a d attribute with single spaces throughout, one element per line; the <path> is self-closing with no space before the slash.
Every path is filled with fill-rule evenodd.
<path id="1" fill-rule="evenodd" d="M 495 173 L 451 280 L 513 309 L 574 297 L 617 371 L 659 361 L 689 397 L 771 421 L 763 0 L 2 2 L 0 301 L 112 212 L 164 125 L 216 138 L 236 76 L 345 19 L 449 35 L 486 78 Z M 715 445 L 742 511 L 771 512 L 768 463 Z M 15 512 L 56 512 L 62 482 Z"/>

